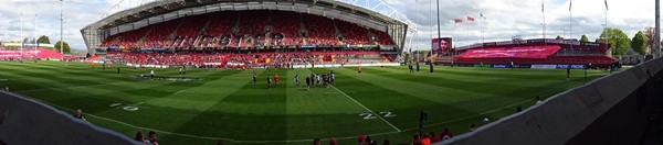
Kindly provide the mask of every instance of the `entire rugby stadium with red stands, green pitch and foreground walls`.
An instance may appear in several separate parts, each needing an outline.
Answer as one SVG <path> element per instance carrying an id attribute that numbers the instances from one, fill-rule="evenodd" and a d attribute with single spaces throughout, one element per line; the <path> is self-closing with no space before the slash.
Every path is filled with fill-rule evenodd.
<path id="1" fill-rule="evenodd" d="M 621 68 L 612 43 L 421 56 L 382 0 L 135 2 L 80 30 L 85 57 L 0 42 L 0 145 L 659 142 L 663 59 Z"/>

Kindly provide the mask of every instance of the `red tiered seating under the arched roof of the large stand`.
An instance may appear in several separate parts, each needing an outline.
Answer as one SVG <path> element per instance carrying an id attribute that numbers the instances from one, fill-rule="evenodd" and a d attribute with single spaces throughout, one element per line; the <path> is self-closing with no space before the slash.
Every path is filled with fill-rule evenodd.
<path id="1" fill-rule="evenodd" d="M 375 40 L 370 40 L 369 35 L 375 35 Z M 296 12 L 260 10 L 185 16 L 109 36 L 101 46 L 181 49 L 345 44 L 393 43 L 385 32 L 346 21 Z"/>

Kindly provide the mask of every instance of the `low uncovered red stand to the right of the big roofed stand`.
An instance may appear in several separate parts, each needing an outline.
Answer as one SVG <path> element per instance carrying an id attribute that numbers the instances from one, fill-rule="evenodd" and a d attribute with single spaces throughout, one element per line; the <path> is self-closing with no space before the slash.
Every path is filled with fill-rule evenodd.
<path id="1" fill-rule="evenodd" d="M 459 47 L 438 56 L 436 63 L 456 65 L 560 65 L 576 64 L 607 68 L 617 59 L 606 55 L 607 44 L 558 40 L 514 40 Z M 454 55 L 459 54 L 459 55 Z"/>

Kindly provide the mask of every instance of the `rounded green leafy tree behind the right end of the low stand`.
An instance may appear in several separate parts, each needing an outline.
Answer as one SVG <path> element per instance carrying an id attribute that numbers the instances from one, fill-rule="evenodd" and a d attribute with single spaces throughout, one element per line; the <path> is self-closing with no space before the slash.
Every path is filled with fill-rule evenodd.
<path id="1" fill-rule="evenodd" d="M 631 38 L 623 31 L 619 29 L 606 27 L 601 33 L 601 37 L 608 38 L 610 44 L 610 53 L 612 55 L 627 54 L 631 45 Z"/>

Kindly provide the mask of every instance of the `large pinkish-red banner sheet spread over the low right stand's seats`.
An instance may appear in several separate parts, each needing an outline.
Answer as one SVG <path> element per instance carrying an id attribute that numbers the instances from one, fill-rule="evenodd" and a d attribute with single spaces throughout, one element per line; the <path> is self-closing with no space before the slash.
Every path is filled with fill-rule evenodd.
<path id="1" fill-rule="evenodd" d="M 476 48 L 470 49 L 459 58 L 546 58 L 559 51 L 559 46 L 530 46 L 511 48 Z"/>

